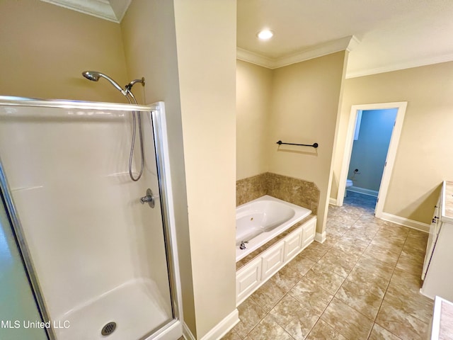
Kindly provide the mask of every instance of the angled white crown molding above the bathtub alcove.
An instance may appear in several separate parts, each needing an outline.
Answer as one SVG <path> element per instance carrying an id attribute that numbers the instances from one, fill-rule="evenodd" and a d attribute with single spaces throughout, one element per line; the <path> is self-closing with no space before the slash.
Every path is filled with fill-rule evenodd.
<path id="1" fill-rule="evenodd" d="M 358 45 L 359 40 L 354 35 L 340 38 L 337 40 L 329 41 L 321 45 L 310 47 L 309 49 L 299 51 L 292 55 L 288 55 L 281 58 L 269 58 L 259 55 L 255 52 L 244 50 L 243 48 L 237 47 L 236 58 L 243 60 L 244 62 L 251 62 L 268 69 L 277 69 L 290 64 L 296 64 L 297 62 L 304 62 L 305 60 L 322 57 L 323 55 L 330 55 L 331 53 L 348 50 L 349 52 Z"/>

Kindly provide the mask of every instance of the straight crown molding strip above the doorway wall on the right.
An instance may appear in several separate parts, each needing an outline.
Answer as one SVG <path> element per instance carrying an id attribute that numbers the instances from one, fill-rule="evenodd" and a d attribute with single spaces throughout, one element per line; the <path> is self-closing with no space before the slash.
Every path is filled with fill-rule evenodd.
<path id="1" fill-rule="evenodd" d="M 379 73 L 386 73 L 386 72 L 394 72 L 400 69 L 411 69 L 413 67 L 421 67 L 427 66 L 432 64 L 440 64 L 441 62 L 452 62 L 453 61 L 453 54 L 449 55 L 441 55 L 436 57 L 424 58 L 420 60 L 409 60 L 407 62 L 399 62 L 394 64 L 388 64 L 382 67 L 376 67 L 374 69 L 362 69 L 359 71 L 346 71 L 346 79 L 349 78 L 357 78 L 357 77 L 364 77 L 370 76 L 372 74 L 379 74 Z"/>

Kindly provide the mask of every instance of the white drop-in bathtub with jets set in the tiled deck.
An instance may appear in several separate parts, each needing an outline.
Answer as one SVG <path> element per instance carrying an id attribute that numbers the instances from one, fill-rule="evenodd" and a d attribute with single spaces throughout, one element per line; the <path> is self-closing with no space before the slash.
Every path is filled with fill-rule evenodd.
<path id="1" fill-rule="evenodd" d="M 236 208 L 236 262 L 311 214 L 311 210 L 272 196 Z M 246 249 L 240 249 L 242 242 Z"/>

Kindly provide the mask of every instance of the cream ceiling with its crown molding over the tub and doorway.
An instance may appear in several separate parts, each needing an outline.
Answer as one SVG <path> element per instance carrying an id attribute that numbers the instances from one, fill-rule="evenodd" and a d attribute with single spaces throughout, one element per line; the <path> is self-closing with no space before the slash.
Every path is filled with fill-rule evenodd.
<path id="1" fill-rule="evenodd" d="M 451 61 L 453 1 L 237 0 L 237 46 L 270 68 L 348 48 L 346 77 Z"/>

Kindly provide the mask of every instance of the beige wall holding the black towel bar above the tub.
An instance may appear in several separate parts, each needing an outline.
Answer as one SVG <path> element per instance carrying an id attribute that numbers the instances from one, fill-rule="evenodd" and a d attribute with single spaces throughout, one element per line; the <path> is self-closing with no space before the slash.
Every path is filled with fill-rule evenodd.
<path id="1" fill-rule="evenodd" d="M 318 225 L 326 225 L 333 142 L 347 52 L 299 62 L 274 70 L 270 113 L 269 171 L 311 181 L 320 191 Z M 283 142 L 319 147 L 291 147 Z"/>

